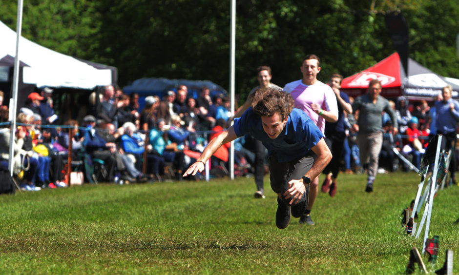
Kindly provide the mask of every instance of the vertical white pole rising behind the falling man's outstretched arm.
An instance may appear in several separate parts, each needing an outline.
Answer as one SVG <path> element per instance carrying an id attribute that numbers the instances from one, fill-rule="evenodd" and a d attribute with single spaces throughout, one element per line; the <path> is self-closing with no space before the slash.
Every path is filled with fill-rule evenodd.
<path id="1" fill-rule="evenodd" d="M 234 116 L 234 70 L 236 52 L 236 0 L 231 0 L 231 43 L 230 43 L 230 97 L 231 113 Z M 231 122 L 232 124 L 232 122 Z M 230 177 L 234 179 L 234 141 L 230 146 Z"/>

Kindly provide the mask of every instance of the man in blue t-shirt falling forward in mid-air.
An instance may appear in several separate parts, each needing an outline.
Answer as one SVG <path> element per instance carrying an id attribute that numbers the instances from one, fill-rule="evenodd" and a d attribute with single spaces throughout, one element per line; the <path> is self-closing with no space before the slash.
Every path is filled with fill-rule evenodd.
<path id="1" fill-rule="evenodd" d="M 290 216 L 303 215 L 309 183 L 330 162 L 332 154 L 324 135 L 301 110 L 294 109 L 291 95 L 262 88 L 250 96 L 250 108 L 219 136 L 210 140 L 184 177 L 204 170 L 204 163 L 224 143 L 250 134 L 268 149 L 271 189 L 277 194 L 276 226 L 286 228 Z"/>

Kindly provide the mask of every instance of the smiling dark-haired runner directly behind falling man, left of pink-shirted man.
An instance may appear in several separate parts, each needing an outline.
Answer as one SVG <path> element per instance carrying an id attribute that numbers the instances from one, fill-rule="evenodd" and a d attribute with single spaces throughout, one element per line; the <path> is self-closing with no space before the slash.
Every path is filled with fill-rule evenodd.
<path id="1" fill-rule="evenodd" d="M 257 68 L 257 80 L 259 86 L 253 88 L 250 93 L 252 95 L 255 93 L 256 90 L 260 88 L 273 88 L 277 89 L 279 91 L 282 90 L 281 87 L 277 86 L 274 83 L 271 83 L 271 67 L 269 66 L 259 66 Z M 242 114 L 250 107 L 250 99 L 247 98 L 246 102 L 244 102 L 244 105 L 242 105 L 234 114 L 234 118 L 240 118 Z M 246 136 L 247 140 L 246 142 L 252 143 L 253 146 L 253 152 L 255 153 L 255 185 L 257 188 L 257 191 L 254 194 L 255 198 L 265 198 L 265 190 L 263 187 L 263 178 L 265 177 L 265 158 L 266 158 L 266 148 L 263 145 L 263 143 L 260 140 L 254 139 L 252 136 L 247 135 Z"/>

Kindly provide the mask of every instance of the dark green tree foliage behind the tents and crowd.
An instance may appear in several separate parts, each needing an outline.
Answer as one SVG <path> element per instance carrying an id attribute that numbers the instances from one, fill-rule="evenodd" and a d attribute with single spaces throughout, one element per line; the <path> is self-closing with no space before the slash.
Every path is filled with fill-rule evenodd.
<path id="1" fill-rule="evenodd" d="M 16 1 L 0 0 L 0 20 L 15 28 Z M 322 59 L 319 79 L 353 75 L 392 54 L 384 16 L 400 10 L 410 27 L 410 56 L 457 77 L 455 0 L 236 1 L 236 94 L 244 101 L 270 65 L 280 86 L 301 78 L 299 62 Z M 118 67 L 119 84 L 142 77 L 230 81 L 230 1 L 32 0 L 23 35 L 64 54 Z"/>

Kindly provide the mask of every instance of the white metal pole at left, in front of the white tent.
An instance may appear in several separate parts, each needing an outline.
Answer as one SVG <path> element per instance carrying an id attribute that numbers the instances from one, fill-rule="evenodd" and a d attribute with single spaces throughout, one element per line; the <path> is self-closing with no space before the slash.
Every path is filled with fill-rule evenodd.
<path id="1" fill-rule="evenodd" d="M 10 156 L 8 158 L 8 168 L 10 169 L 10 175 L 13 176 L 13 157 L 14 157 L 14 138 L 16 136 L 16 111 L 18 109 L 18 83 L 19 83 L 19 39 L 21 38 L 22 29 L 22 0 L 18 0 L 18 18 L 16 22 L 16 56 L 14 57 L 14 75 L 13 75 L 13 95 L 10 99 L 10 110 L 11 117 L 8 118 L 11 121 L 10 130 Z"/>

